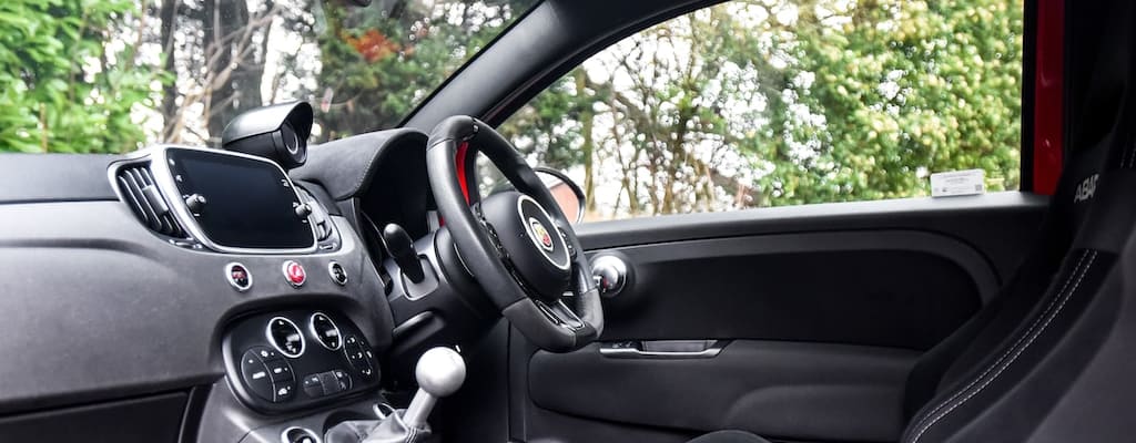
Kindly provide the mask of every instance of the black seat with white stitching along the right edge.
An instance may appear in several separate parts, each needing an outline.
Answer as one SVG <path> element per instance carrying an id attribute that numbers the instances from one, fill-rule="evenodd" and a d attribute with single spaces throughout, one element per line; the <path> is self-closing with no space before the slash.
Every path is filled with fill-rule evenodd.
<path id="1" fill-rule="evenodd" d="M 1099 143 L 1070 154 L 1016 275 L 912 369 L 902 442 L 1130 441 L 1136 432 L 1118 411 L 1136 404 L 1136 282 L 1126 281 L 1136 275 L 1136 94 L 1111 93 L 1099 103 L 1124 111 Z M 691 443 L 763 442 L 726 431 Z"/>

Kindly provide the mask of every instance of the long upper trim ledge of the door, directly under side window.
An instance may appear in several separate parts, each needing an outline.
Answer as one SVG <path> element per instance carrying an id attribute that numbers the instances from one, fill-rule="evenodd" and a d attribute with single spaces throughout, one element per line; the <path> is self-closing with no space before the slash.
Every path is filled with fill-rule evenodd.
<path id="1" fill-rule="evenodd" d="M 576 232 L 585 249 L 596 250 L 767 233 L 916 230 L 982 250 L 1001 283 L 1017 269 L 1022 253 L 1017 246 L 1034 239 L 1047 205 L 1046 196 L 1008 191 L 644 216 L 583 223 Z"/>

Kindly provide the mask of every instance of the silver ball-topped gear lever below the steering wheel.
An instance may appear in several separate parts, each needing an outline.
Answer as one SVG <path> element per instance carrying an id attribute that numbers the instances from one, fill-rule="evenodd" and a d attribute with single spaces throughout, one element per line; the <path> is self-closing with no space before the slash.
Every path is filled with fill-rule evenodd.
<path id="1" fill-rule="evenodd" d="M 433 348 L 415 366 L 418 392 L 406 411 L 379 421 L 362 443 L 416 443 L 429 435 L 426 418 L 437 399 L 454 393 L 466 381 L 466 363 L 450 348 Z"/>

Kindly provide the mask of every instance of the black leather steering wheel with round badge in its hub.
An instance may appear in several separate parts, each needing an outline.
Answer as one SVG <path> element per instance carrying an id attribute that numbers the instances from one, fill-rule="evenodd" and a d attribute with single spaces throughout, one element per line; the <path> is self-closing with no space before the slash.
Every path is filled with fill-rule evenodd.
<path id="1" fill-rule="evenodd" d="M 427 146 L 429 185 L 444 227 L 501 315 L 544 350 L 567 352 L 594 341 L 603 331 L 603 308 L 592 266 L 568 218 L 520 153 L 466 116 L 440 122 Z M 516 190 L 481 201 L 468 189 L 465 177 L 476 152 Z"/>

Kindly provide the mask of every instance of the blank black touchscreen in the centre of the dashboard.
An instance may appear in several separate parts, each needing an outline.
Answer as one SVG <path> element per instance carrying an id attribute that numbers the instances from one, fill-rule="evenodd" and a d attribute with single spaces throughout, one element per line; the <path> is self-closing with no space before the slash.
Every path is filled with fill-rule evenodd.
<path id="1" fill-rule="evenodd" d="M 273 164 L 206 151 L 167 151 L 182 197 L 206 198 L 193 218 L 215 244 L 236 248 L 300 249 L 315 244 L 299 199 Z"/>

